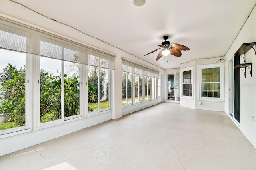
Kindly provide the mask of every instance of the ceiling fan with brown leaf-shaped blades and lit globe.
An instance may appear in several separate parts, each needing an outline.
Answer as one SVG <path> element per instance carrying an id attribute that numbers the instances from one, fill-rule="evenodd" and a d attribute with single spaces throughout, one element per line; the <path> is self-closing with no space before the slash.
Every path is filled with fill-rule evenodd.
<path id="1" fill-rule="evenodd" d="M 156 57 L 156 61 L 158 59 L 160 59 L 163 55 L 167 56 L 168 54 L 174 55 L 176 57 L 180 57 L 181 56 L 181 50 L 184 50 L 184 51 L 190 50 L 188 47 L 186 47 L 184 45 L 180 45 L 178 43 L 172 43 L 171 44 L 169 41 L 166 41 L 169 38 L 169 36 L 163 36 L 163 38 L 164 38 L 165 41 L 162 42 L 162 45 L 158 45 L 158 46 L 161 47 L 161 48 L 164 48 L 164 49 L 162 49 L 158 53 L 158 55 Z M 158 49 L 161 49 L 161 48 L 158 48 Z M 156 49 L 154 51 L 151 51 L 150 53 L 147 53 L 146 55 L 154 53 L 158 49 Z M 144 56 L 146 56 L 146 55 L 144 55 Z"/>

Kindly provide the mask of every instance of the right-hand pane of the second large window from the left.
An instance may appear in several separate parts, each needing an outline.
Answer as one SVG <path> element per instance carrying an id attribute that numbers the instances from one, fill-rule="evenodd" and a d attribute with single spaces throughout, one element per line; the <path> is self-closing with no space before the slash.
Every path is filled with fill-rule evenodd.
<path id="1" fill-rule="evenodd" d="M 78 63 L 64 61 L 64 117 L 79 115 L 79 66 Z"/>

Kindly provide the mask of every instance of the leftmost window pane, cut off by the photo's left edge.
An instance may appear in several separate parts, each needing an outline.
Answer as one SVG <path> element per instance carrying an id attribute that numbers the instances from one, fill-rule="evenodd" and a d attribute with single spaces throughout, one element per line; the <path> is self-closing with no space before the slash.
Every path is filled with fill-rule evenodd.
<path id="1" fill-rule="evenodd" d="M 0 130 L 26 125 L 26 54 L 0 49 Z"/>

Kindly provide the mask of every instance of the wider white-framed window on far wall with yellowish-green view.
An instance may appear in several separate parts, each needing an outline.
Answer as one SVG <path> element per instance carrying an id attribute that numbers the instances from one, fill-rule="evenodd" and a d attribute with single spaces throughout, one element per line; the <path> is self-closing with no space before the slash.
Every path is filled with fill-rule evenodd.
<path id="1" fill-rule="evenodd" d="M 224 100 L 224 65 L 200 65 L 200 99 Z"/>

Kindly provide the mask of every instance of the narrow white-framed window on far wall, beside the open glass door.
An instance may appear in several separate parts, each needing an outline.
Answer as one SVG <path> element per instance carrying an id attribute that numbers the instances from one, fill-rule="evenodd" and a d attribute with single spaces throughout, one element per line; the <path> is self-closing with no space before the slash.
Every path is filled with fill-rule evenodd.
<path id="1" fill-rule="evenodd" d="M 181 94 L 182 98 L 194 99 L 193 97 L 193 67 L 187 67 L 180 70 L 181 74 Z"/>

